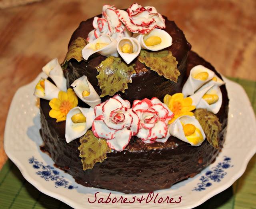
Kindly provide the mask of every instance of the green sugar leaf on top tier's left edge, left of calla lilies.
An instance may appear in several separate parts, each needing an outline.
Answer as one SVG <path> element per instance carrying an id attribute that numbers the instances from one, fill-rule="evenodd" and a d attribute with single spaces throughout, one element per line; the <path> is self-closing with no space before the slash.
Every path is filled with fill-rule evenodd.
<path id="1" fill-rule="evenodd" d="M 68 62 L 72 58 L 76 59 L 78 62 L 83 60 L 82 50 L 87 44 L 88 42 L 81 37 L 78 37 L 76 38 L 76 40 L 72 41 L 68 48 L 68 52 L 66 54 L 64 62 L 62 64 L 62 68 L 65 69 L 67 66 L 66 62 Z"/>

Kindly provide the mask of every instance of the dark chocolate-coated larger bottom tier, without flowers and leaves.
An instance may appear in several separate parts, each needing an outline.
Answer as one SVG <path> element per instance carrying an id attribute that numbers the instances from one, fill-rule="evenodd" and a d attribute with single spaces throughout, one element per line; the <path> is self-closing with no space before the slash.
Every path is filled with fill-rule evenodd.
<path id="1" fill-rule="evenodd" d="M 196 53 L 189 52 L 187 75 L 191 68 L 198 64 L 214 70 Z M 217 116 L 222 123 L 220 132 L 222 147 L 228 117 L 228 96 L 225 86 L 221 87 L 221 91 L 223 102 Z M 214 161 L 220 151 L 210 146 L 207 140 L 202 145 L 194 147 L 175 137 L 170 137 L 166 143 L 154 144 L 145 144 L 137 137 L 133 137 L 124 151 L 108 153 L 108 158 L 102 163 L 96 163 L 93 169 L 84 171 L 79 157 L 79 139 L 66 143 L 65 122 L 56 123 L 55 119 L 49 117 L 48 103 L 46 100 L 40 101 L 42 125 L 40 133 L 44 141 L 43 147 L 58 167 L 84 186 L 124 193 L 166 189 L 178 181 L 199 173 Z"/>

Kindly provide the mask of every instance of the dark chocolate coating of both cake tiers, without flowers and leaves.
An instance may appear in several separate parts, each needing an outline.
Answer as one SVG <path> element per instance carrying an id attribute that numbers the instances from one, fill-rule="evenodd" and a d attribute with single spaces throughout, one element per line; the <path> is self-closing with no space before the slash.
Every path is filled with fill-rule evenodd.
<path id="1" fill-rule="evenodd" d="M 93 18 L 83 21 L 73 33 L 72 40 L 78 36 L 86 38 L 92 28 Z M 124 93 L 118 92 L 123 99 L 131 103 L 135 99 L 151 99 L 158 97 L 160 100 L 166 94 L 175 94 L 182 91 L 182 86 L 188 78 L 192 67 L 201 64 L 213 70 L 214 67 L 200 58 L 195 52 L 190 51 L 190 44 L 186 41 L 183 32 L 173 21 L 166 19 L 166 31 L 172 36 L 173 43 L 168 50 L 178 61 L 180 76 L 178 82 L 174 83 L 158 76 L 137 59 L 134 60 L 136 74 L 132 76 L 132 84 L 128 84 L 128 89 Z M 69 43 L 69 44 L 70 44 Z M 96 78 L 98 72 L 95 67 L 100 64 L 105 57 L 94 54 L 88 62 L 78 63 L 70 60 L 65 75 L 68 84 L 80 76 L 86 75 L 89 82 L 94 86 L 100 95 Z M 216 74 L 220 76 L 217 72 Z M 224 142 L 226 125 L 228 118 L 228 95 L 225 86 L 221 86 L 223 101 L 217 116 L 222 123 L 220 132 L 220 147 Z M 108 97 L 102 98 L 102 101 Z M 79 101 L 78 106 L 88 107 Z M 142 193 L 157 189 L 171 187 L 174 183 L 193 177 L 204 167 L 212 163 L 218 155 L 218 149 L 210 146 L 207 140 L 202 145 L 191 146 L 176 137 L 170 137 L 166 143 L 146 144 L 137 137 L 132 137 L 124 151 L 115 151 L 107 154 L 107 159 L 102 163 L 96 163 L 93 169 L 82 169 L 82 162 L 79 157 L 79 139 L 70 143 L 65 140 L 65 121 L 56 123 L 56 119 L 49 116 L 49 101 L 40 100 L 41 124 L 40 131 L 44 141 L 44 149 L 51 155 L 58 167 L 64 169 L 74 179 L 89 187 L 100 187 L 124 193 Z"/>

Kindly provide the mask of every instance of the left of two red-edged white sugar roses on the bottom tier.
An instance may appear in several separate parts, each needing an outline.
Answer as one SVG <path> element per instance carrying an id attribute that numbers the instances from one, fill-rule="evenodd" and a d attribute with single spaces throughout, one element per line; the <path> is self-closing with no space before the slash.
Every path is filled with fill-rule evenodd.
<path id="1" fill-rule="evenodd" d="M 124 150 L 132 135 L 138 133 L 138 115 L 130 109 L 130 102 L 118 95 L 96 105 L 94 112 L 92 132 L 96 137 L 106 139 L 112 149 Z"/>

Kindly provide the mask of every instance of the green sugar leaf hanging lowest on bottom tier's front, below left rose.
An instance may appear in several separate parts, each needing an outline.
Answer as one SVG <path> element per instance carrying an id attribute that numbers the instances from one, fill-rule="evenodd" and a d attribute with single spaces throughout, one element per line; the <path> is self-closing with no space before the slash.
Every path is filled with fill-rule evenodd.
<path id="1" fill-rule="evenodd" d="M 106 141 L 96 138 L 91 130 L 80 138 L 80 143 L 81 145 L 78 147 L 80 151 L 79 157 L 82 157 L 84 171 L 92 169 L 95 163 L 102 163 L 107 158 L 107 153 L 111 152 Z"/>

